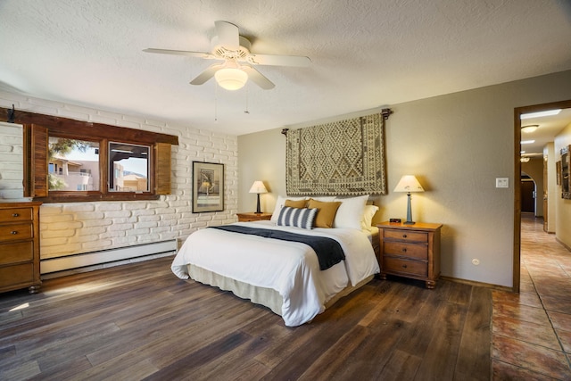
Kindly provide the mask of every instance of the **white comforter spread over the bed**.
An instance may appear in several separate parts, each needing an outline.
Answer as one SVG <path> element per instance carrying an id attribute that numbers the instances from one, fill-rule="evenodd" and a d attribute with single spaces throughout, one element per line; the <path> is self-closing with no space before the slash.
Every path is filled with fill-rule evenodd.
<path id="1" fill-rule="evenodd" d="M 379 272 L 368 236 L 352 228 L 311 230 L 276 226 L 274 221 L 237 222 L 309 236 L 327 236 L 343 247 L 345 261 L 320 270 L 317 255 L 306 244 L 203 228 L 188 236 L 172 262 L 172 272 L 187 279 L 187 265 L 208 269 L 252 286 L 276 290 L 283 297 L 285 325 L 299 326 L 325 310 L 325 303 L 345 286 L 357 285 Z"/>

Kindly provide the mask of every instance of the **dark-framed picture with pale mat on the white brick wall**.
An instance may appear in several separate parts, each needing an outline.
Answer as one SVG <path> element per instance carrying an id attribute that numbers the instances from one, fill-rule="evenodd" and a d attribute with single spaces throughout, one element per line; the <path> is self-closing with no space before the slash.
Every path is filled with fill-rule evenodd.
<path id="1" fill-rule="evenodd" d="M 224 211 L 224 164 L 193 162 L 193 213 Z"/>

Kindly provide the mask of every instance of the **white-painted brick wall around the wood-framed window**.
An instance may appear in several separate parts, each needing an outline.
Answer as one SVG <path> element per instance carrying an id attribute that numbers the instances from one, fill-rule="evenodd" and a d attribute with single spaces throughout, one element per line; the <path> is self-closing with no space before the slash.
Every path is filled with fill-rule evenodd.
<path id="1" fill-rule="evenodd" d="M 178 145 L 172 146 L 171 195 L 149 202 L 43 204 L 40 207 L 42 260 L 168 239 L 177 239 L 180 246 L 198 228 L 236 221 L 236 136 L 0 91 L 0 106 L 12 108 L 12 104 L 16 112 L 37 112 L 178 136 Z M 6 139 L 14 140 L 10 137 L 0 140 L 0 156 L 13 149 L 21 150 L 6 144 Z M 192 213 L 193 161 L 224 164 L 225 211 Z M 0 176 L 9 173 L 10 165 L 8 169 L 0 167 Z M 101 255 L 103 262 L 104 253 Z"/>

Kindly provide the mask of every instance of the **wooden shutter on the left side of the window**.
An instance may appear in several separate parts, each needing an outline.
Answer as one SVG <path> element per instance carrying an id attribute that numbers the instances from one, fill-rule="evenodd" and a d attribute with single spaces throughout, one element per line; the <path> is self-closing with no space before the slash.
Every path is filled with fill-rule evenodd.
<path id="1" fill-rule="evenodd" d="M 47 128 L 31 124 L 25 126 L 24 149 L 25 184 L 27 197 L 47 196 Z"/>

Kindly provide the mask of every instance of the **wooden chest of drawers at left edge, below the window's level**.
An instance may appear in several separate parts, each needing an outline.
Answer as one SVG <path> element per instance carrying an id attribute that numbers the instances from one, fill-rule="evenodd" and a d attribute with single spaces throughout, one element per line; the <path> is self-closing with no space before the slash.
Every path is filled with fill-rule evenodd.
<path id="1" fill-rule="evenodd" d="M 29 287 L 35 294 L 39 277 L 39 206 L 0 203 L 0 292 Z"/>

